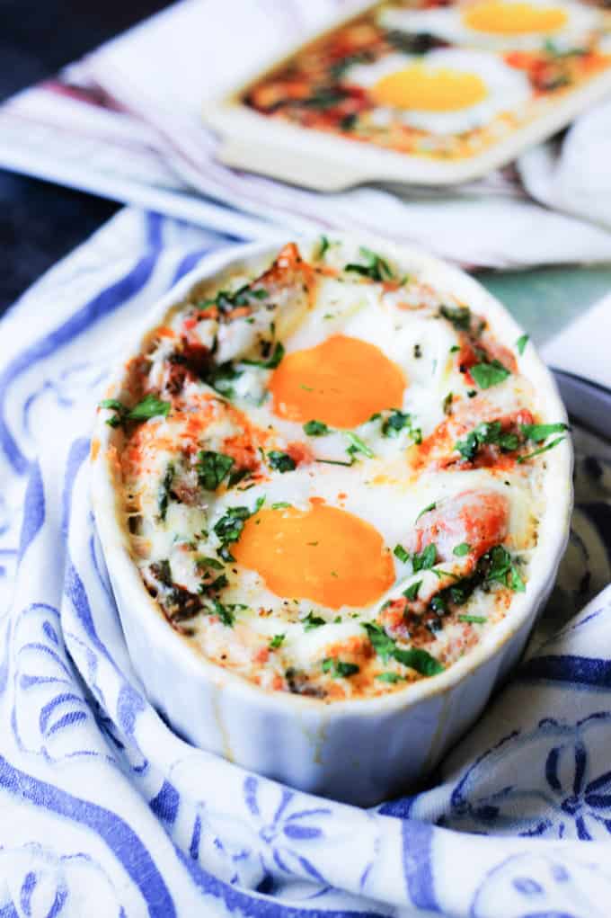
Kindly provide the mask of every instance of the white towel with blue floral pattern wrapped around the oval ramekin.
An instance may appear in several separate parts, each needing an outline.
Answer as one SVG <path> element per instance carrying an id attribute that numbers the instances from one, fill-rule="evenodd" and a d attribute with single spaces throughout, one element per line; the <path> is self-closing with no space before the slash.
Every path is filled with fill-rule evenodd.
<path id="1" fill-rule="evenodd" d="M 143 695 L 95 538 L 88 434 L 130 326 L 230 242 L 125 210 L 0 326 L 1 918 L 608 916 L 603 443 L 578 438 L 536 650 L 428 789 L 370 811 L 295 792 L 184 743 Z"/>

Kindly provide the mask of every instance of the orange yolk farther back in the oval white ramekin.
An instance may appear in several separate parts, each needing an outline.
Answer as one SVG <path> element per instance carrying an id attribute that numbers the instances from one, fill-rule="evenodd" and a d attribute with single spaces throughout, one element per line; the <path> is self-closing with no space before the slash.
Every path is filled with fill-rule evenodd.
<path id="1" fill-rule="evenodd" d="M 373 344 L 333 335 L 316 347 L 287 354 L 269 388 L 281 418 L 350 428 L 376 411 L 400 407 L 405 376 Z"/>

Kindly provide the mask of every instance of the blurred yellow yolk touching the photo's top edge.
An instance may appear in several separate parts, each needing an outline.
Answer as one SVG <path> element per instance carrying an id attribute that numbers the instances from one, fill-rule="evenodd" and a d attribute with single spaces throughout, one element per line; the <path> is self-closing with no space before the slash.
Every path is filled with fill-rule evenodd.
<path id="1" fill-rule="evenodd" d="M 534 6 L 529 3 L 506 3 L 483 0 L 462 13 L 465 26 L 491 35 L 550 34 L 565 25 L 567 15 L 557 6 Z"/>

